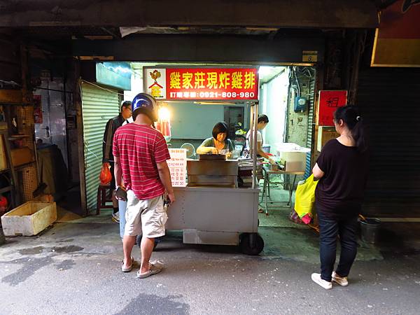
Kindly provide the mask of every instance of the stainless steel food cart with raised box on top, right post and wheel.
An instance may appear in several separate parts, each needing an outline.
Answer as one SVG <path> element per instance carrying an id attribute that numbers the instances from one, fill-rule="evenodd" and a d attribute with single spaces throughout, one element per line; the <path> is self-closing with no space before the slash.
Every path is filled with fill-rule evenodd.
<path id="1" fill-rule="evenodd" d="M 256 142 L 258 102 L 251 105 L 250 117 Z M 264 241 L 258 234 L 255 150 L 251 155 L 249 188 L 237 186 L 237 160 L 188 160 L 188 186 L 174 188 L 176 202 L 168 210 L 167 230 L 182 230 L 186 244 L 239 245 L 243 253 L 258 255 Z"/>

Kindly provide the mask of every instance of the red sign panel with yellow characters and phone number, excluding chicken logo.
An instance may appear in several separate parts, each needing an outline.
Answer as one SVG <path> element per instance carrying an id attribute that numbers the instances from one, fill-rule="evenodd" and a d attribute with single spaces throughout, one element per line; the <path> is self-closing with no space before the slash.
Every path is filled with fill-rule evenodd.
<path id="1" fill-rule="evenodd" d="M 167 99 L 258 99 L 258 70 L 167 69 Z"/>

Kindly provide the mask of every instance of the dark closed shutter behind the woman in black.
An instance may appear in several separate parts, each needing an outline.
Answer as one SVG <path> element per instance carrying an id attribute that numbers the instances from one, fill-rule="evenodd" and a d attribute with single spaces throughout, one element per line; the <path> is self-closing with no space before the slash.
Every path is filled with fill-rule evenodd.
<path id="1" fill-rule="evenodd" d="M 363 213 L 420 216 L 420 69 L 360 71 L 357 104 L 370 130 Z"/>

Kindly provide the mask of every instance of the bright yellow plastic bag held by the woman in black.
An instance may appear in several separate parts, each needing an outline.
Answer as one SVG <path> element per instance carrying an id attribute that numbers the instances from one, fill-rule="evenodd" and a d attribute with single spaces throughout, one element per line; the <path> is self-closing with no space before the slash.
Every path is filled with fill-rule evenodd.
<path id="1" fill-rule="evenodd" d="M 318 181 L 314 181 L 314 174 L 297 184 L 295 211 L 305 224 L 311 223 L 314 217 L 315 188 L 317 184 Z"/>

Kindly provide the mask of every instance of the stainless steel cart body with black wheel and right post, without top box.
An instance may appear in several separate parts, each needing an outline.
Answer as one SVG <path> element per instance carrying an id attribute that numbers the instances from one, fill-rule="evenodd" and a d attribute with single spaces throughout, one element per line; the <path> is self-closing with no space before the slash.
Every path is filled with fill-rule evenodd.
<path id="1" fill-rule="evenodd" d="M 251 104 L 253 148 L 257 147 L 258 103 Z M 241 251 L 258 255 L 264 241 L 258 235 L 258 194 L 255 179 L 256 151 L 253 158 L 251 188 L 186 187 L 174 188 L 176 202 L 168 210 L 167 230 L 182 230 L 186 244 L 239 245 Z"/>

